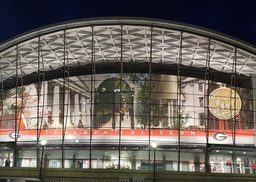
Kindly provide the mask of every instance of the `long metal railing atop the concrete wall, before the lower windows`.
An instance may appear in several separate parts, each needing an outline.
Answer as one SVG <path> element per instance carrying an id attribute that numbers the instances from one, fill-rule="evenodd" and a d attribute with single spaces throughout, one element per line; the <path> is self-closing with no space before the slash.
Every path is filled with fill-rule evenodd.
<path id="1" fill-rule="evenodd" d="M 14 159 L 0 158 L 0 166 L 14 166 Z M 233 165 L 222 163 L 206 164 L 202 162 L 177 162 L 121 159 L 43 159 L 42 168 L 82 168 L 82 169 L 132 169 L 132 170 L 160 170 L 187 171 L 210 173 L 253 174 L 252 165 Z M 41 159 L 17 158 L 17 167 L 41 167 Z"/>

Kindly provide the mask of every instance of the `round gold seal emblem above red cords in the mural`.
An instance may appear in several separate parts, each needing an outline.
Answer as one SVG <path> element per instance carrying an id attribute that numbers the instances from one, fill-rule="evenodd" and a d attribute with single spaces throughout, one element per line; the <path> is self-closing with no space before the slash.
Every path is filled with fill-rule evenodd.
<path id="1" fill-rule="evenodd" d="M 236 102 L 235 102 L 236 98 Z M 236 107 L 236 109 L 235 109 Z M 209 96 L 209 110 L 220 119 L 233 118 L 241 109 L 240 96 L 232 89 L 221 87 Z M 235 114 L 236 111 L 236 114 Z"/>

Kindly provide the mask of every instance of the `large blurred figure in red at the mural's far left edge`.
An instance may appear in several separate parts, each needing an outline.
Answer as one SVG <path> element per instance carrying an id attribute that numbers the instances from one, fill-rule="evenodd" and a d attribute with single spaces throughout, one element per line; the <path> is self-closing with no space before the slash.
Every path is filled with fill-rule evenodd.
<path id="1" fill-rule="evenodd" d="M 17 109 L 16 109 L 17 107 Z M 3 107 L 0 111 L 0 129 L 27 129 L 26 118 L 22 114 L 22 98 L 12 95 L 3 100 Z"/>

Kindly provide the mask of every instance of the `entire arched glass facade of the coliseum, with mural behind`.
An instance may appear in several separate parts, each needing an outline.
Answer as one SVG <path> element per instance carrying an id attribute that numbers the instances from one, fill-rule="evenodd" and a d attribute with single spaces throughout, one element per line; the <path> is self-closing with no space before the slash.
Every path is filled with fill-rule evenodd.
<path id="1" fill-rule="evenodd" d="M 209 37 L 121 24 L 14 45 L 0 52 L 0 165 L 252 173 L 255 62 Z"/>

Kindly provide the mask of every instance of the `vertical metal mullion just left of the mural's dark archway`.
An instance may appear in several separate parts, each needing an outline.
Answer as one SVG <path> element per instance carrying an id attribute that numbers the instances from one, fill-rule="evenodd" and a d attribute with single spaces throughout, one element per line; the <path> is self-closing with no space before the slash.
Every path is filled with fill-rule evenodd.
<path id="1" fill-rule="evenodd" d="M 90 154 L 89 154 L 89 168 L 91 168 L 91 138 L 93 135 L 93 27 L 91 27 L 91 128 L 90 128 Z M 95 105 L 95 104 L 94 104 Z"/>

